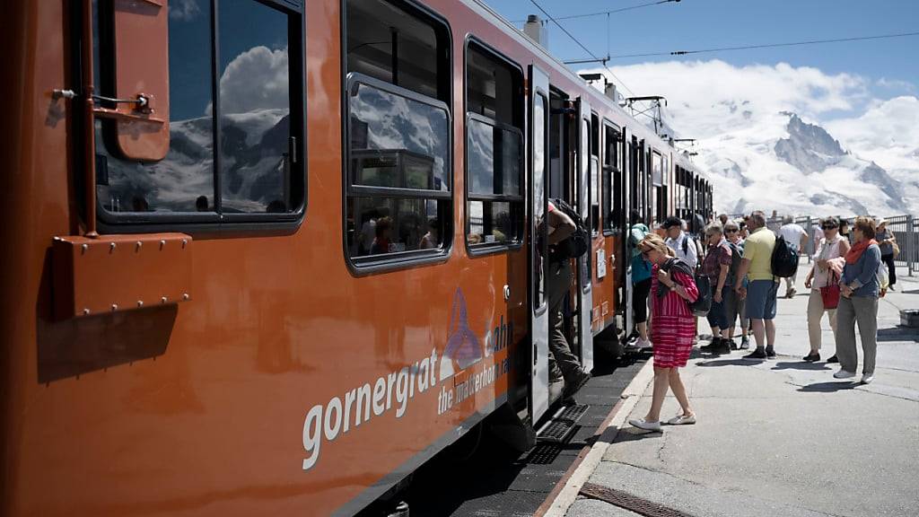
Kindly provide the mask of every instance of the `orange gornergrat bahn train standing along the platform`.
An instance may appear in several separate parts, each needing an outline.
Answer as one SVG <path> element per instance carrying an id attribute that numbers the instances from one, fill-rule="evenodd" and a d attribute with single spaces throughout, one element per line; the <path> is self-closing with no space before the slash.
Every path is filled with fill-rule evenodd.
<path id="1" fill-rule="evenodd" d="M 711 210 L 481 2 L 5 18 L 4 515 L 350 514 L 490 415 L 528 442 L 558 404 L 548 199 L 592 231 L 588 369 L 630 327 L 625 214 Z"/>

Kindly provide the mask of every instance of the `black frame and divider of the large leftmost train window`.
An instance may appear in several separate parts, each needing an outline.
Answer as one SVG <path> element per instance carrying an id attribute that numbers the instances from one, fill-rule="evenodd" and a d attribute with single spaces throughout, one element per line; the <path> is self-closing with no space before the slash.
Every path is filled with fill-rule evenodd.
<path id="1" fill-rule="evenodd" d="M 303 220 L 305 219 L 309 203 L 309 155 L 307 153 L 308 140 L 308 112 L 307 112 L 307 81 L 306 81 L 306 62 L 307 55 L 307 34 L 306 34 L 306 9 L 302 0 L 250 0 L 255 4 L 275 9 L 281 14 L 288 17 L 288 75 L 289 75 L 289 101 L 290 101 L 290 137 L 294 138 L 293 151 L 297 155 L 297 160 L 293 162 L 295 167 L 289 174 L 289 188 L 295 191 L 295 195 L 300 197 L 300 202 L 295 209 L 289 213 L 225 213 L 213 212 L 110 212 L 103 206 L 103 201 L 96 196 L 96 224 L 100 232 L 108 234 L 132 234 L 132 233 L 158 233 L 181 231 L 191 235 L 211 235 L 211 234 L 229 234 L 229 236 L 248 235 L 256 233 L 258 235 L 289 235 L 296 232 Z M 211 123 L 212 142 L 213 142 L 213 196 L 215 206 L 222 201 L 222 181 L 221 181 L 221 101 L 220 101 L 220 37 L 221 31 L 218 24 L 220 17 L 219 2 L 211 4 L 210 9 L 210 94 L 212 109 Z M 105 24 L 111 27 L 112 19 L 102 19 L 101 16 L 96 18 L 96 24 L 102 26 Z M 103 40 L 105 30 L 99 29 L 98 45 L 98 62 L 96 67 L 100 69 L 99 74 L 102 80 L 99 91 L 102 95 L 111 91 L 112 75 L 118 65 L 114 41 Z M 92 35 L 83 35 L 88 44 L 93 45 Z M 105 67 L 107 70 L 102 70 Z M 96 121 L 100 119 L 96 118 Z M 110 129 L 105 127 L 111 125 L 103 121 L 103 142 L 96 145 L 105 145 L 108 153 L 110 147 L 108 144 L 108 135 Z M 95 153 L 96 150 L 87 150 L 86 152 Z M 114 153 L 118 155 L 118 153 Z M 98 158 L 96 158 L 98 159 Z M 130 163 L 141 163 L 139 160 L 126 160 Z M 81 162 L 82 167 L 82 162 Z M 98 166 L 96 166 L 97 168 Z M 95 185 L 84 185 L 83 188 L 96 189 Z M 222 206 L 221 206 L 222 209 Z"/>

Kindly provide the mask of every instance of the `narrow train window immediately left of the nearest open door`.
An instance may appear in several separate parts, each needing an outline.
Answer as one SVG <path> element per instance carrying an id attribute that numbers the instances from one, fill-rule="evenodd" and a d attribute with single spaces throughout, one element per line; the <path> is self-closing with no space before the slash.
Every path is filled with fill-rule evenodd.
<path id="1" fill-rule="evenodd" d="M 523 72 L 470 40 L 466 50 L 466 242 L 518 246 L 524 223 Z"/>

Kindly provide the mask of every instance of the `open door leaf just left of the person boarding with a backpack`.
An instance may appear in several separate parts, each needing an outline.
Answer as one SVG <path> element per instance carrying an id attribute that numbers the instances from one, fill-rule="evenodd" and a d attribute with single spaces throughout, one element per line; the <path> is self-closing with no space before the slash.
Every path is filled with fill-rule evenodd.
<path id="1" fill-rule="evenodd" d="M 529 411 L 532 421 L 539 420 L 549 408 L 549 239 L 546 235 L 546 209 L 549 203 L 549 75 L 535 65 L 529 66 L 529 171 L 528 212 L 530 336 L 532 337 L 532 371 L 529 375 Z"/>

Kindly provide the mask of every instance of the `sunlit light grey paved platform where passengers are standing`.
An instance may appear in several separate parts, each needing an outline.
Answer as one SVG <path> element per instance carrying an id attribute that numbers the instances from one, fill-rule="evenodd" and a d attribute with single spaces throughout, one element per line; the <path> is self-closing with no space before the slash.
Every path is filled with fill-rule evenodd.
<path id="1" fill-rule="evenodd" d="M 919 515 L 919 332 L 897 328 L 901 308 L 919 308 L 919 281 L 898 287 L 880 303 L 873 384 L 801 362 L 807 296 L 780 299 L 776 360 L 695 354 L 683 378 L 698 424 L 663 433 L 618 424 L 646 413 L 648 386 L 584 479 L 697 516 Z M 825 359 L 834 342 L 824 325 Z M 663 416 L 677 410 L 668 397 Z M 636 515 L 584 497 L 566 514 Z"/>

